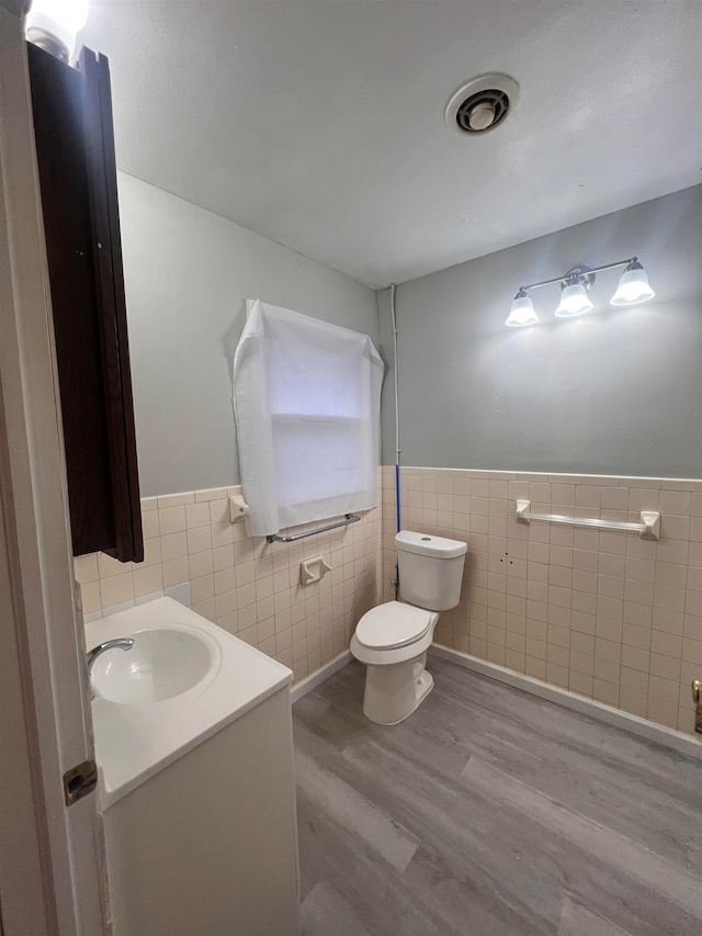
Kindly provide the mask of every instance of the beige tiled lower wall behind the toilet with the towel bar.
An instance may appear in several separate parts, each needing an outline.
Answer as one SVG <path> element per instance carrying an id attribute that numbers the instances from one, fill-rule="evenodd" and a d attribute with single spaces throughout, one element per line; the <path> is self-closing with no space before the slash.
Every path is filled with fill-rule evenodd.
<path id="1" fill-rule="evenodd" d="M 395 574 L 394 467 L 383 470 L 385 600 Z M 638 521 L 661 538 L 514 519 L 533 512 Z M 401 470 L 403 526 L 465 540 L 461 604 L 437 641 L 693 732 L 702 679 L 702 482 L 424 467 Z"/>

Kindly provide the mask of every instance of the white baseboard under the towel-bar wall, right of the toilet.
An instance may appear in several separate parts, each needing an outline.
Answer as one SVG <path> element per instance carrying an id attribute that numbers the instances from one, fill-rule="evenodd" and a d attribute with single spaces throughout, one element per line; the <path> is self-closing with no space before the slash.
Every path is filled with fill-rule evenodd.
<path id="1" fill-rule="evenodd" d="M 487 659 L 478 659 L 477 656 L 471 656 L 450 646 L 434 643 L 431 645 L 429 652 L 433 656 L 448 659 L 450 663 L 455 663 L 465 669 L 472 669 L 474 673 L 480 673 L 483 676 L 497 679 L 498 683 L 506 683 L 508 686 L 523 689 L 525 692 L 531 692 L 532 696 L 540 696 L 542 699 L 557 702 L 567 709 L 573 709 L 576 712 L 599 719 L 602 722 L 607 722 L 607 724 L 623 728 L 632 734 L 645 737 L 647 741 L 656 741 L 659 744 L 665 744 L 667 747 L 672 747 L 675 751 L 680 751 L 682 754 L 691 754 L 693 757 L 702 759 L 702 740 L 698 741 L 689 734 L 683 734 L 681 731 L 673 731 L 665 725 L 658 725 L 646 719 L 638 718 L 638 715 L 631 715 L 629 712 L 621 711 L 621 709 L 605 706 L 604 702 L 597 702 L 595 699 L 585 698 L 585 696 L 576 696 L 575 692 L 569 692 L 567 689 L 550 686 L 540 679 L 533 679 L 531 676 L 524 676 L 522 673 L 514 673 L 512 669 L 498 666 L 497 663 L 488 663 Z"/>

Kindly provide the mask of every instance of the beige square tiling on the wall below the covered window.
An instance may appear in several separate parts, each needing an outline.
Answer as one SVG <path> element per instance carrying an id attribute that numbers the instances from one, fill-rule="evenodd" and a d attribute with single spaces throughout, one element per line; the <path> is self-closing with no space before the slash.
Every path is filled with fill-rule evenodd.
<path id="1" fill-rule="evenodd" d="M 380 601 L 380 507 L 349 527 L 293 545 L 269 544 L 248 539 L 242 523 L 229 521 L 235 494 L 241 488 L 144 498 L 143 563 L 123 564 L 102 553 L 75 561 L 83 613 L 101 616 L 167 590 L 186 600 L 189 588 L 194 611 L 302 679 L 346 650 L 359 618 Z M 302 586 L 301 562 L 319 554 L 331 572 Z"/>

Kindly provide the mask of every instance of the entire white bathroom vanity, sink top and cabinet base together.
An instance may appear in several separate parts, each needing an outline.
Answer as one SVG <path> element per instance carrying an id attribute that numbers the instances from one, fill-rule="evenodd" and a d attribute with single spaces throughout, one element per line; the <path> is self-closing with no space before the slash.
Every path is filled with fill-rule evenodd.
<path id="1" fill-rule="evenodd" d="M 114 936 L 297 936 L 292 673 L 159 598 L 86 625 Z"/>

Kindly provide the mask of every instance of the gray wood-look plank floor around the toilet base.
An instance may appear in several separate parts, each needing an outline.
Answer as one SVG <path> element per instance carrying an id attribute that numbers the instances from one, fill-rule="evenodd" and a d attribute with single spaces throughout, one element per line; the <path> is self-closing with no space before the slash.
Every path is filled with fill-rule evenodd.
<path id="1" fill-rule="evenodd" d="M 702 762 L 429 668 L 399 725 L 356 663 L 293 709 L 305 936 L 701 936 Z"/>

